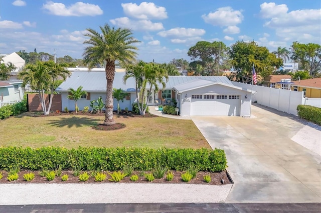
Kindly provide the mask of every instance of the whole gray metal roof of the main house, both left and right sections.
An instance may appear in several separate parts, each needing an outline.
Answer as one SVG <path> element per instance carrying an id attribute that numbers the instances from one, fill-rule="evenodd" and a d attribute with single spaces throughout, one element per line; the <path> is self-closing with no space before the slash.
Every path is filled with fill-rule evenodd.
<path id="1" fill-rule="evenodd" d="M 114 88 L 122 88 L 125 91 L 135 91 L 135 79 L 130 77 L 127 79 L 126 84 L 123 83 L 122 78 L 125 72 L 115 72 L 113 81 Z M 234 86 L 226 76 L 169 76 L 169 81 L 166 82 L 164 89 L 172 89 L 174 86 L 193 81 L 196 79 L 203 79 L 206 81 L 219 82 Z M 201 82 L 201 81 L 196 81 Z M 204 81 L 205 82 L 205 81 Z M 71 76 L 67 78 L 62 84 L 56 88 L 56 91 L 68 91 L 69 88 L 77 89 L 83 86 L 83 90 L 88 92 L 105 92 L 106 91 L 106 77 L 104 71 L 73 71 Z M 158 85 L 160 89 L 163 88 L 161 84 Z M 194 86 L 194 85 L 189 85 Z M 147 88 L 149 86 L 147 85 Z"/>

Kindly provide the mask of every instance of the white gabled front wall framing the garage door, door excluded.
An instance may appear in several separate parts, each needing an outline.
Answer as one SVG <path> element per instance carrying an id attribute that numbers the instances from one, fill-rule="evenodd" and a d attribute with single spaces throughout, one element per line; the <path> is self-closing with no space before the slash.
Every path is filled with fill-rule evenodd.
<path id="1" fill-rule="evenodd" d="M 189 116 L 191 114 L 191 97 L 192 94 L 219 94 L 219 95 L 240 95 L 240 116 L 248 116 L 251 111 L 250 92 L 234 89 L 223 85 L 211 85 L 198 89 L 182 92 L 181 100 L 178 101 L 182 116 Z M 247 99 L 245 95 L 247 94 Z M 186 97 L 187 96 L 187 97 Z"/>

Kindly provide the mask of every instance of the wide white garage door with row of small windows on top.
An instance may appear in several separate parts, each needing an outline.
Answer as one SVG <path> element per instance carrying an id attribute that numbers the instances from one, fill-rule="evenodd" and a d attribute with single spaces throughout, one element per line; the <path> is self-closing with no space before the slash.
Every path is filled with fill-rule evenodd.
<path id="1" fill-rule="evenodd" d="M 240 95 L 192 95 L 191 115 L 240 115 Z"/>

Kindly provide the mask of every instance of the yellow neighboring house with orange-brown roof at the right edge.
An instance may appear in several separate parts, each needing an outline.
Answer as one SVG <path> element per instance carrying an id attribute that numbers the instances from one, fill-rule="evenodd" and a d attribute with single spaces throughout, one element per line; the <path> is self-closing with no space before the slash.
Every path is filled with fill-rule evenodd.
<path id="1" fill-rule="evenodd" d="M 291 85 L 291 90 L 303 91 L 304 97 L 321 98 L 321 77 L 294 80 Z"/>

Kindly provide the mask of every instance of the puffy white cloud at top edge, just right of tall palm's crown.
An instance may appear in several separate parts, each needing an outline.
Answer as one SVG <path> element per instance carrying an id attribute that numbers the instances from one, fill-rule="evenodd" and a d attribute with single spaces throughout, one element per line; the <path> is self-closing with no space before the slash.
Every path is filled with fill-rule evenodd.
<path id="1" fill-rule="evenodd" d="M 122 3 L 124 13 L 138 19 L 165 19 L 167 18 L 166 8 L 157 6 L 152 2 Z"/>

